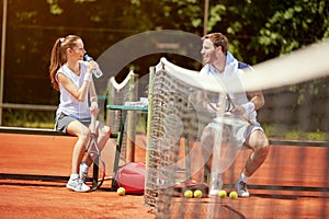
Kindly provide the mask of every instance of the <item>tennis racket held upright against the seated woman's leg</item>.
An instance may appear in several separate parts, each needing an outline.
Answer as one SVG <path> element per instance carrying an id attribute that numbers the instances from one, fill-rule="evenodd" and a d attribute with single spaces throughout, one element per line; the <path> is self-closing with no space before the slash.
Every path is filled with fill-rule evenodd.
<path id="1" fill-rule="evenodd" d="M 95 191 L 101 187 L 105 178 L 105 162 L 102 158 L 101 151 L 98 147 L 98 135 L 95 131 L 95 116 L 91 116 L 91 126 L 90 126 L 90 140 L 87 147 L 87 155 L 92 158 L 93 168 L 92 168 L 92 178 L 88 180 L 92 182 L 91 191 Z"/>

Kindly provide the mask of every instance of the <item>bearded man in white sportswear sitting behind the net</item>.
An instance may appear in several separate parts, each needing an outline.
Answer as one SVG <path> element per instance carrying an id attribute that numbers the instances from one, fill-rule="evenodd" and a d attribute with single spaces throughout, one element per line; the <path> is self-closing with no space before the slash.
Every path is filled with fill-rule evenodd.
<path id="1" fill-rule="evenodd" d="M 202 38 L 203 47 L 201 54 L 205 66 L 200 74 L 204 77 L 227 77 L 239 76 L 243 73 L 242 68 L 248 67 L 242 62 L 237 61 L 231 54 L 228 53 L 228 39 L 222 33 L 213 33 Z M 238 83 L 238 81 L 237 81 Z M 226 84 L 229 88 L 229 84 Z M 248 96 L 247 96 L 248 95 Z M 247 189 L 247 180 L 262 165 L 269 153 L 269 140 L 257 122 L 256 111 L 264 105 L 264 96 L 261 91 L 228 93 L 227 99 L 231 101 L 231 108 L 228 110 L 232 115 L 239 115 L 246 118 L 247 127 L 243 129 L 243 137 L 237 141 L 238 148 L 245 146 L 252 150 L 248 158 L 246 165 L 235 185 L 240 197 L 249 197 Z M 203 148 L 203 155 L 208 159 L 206 165 L 212 170 L 212 153 L 214 147 L 214 137 L 220 124 L 215 119 L 208 124 L 203 130 L 201 143 Z M 211 180 L 209 195 L 217 195 L 222 189 L 223 181 L 222 173 L 214 172 Z"/>

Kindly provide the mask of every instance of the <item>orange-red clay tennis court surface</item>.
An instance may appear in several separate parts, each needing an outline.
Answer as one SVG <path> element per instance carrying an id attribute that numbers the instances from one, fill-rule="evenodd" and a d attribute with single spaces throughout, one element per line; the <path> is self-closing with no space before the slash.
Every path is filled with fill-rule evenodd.
<path id="1" fill-rule="evenodd" d="M 1 218 L 155 218 L 144 205 L 144 196 L 118 196 L 111 192 L 111 181 L 102 189 L 79 194 L 65 188 L 66 181 L 14 180 L 8 175 L 67 177 L 70 174 L 75 138 L 0 134 L 0 217 Z M 145 161 L 145 138 L 137 138 L 136 161 Z M 241 169 L 242 151 L 224 180 L 232 184 Z M 112 170 L 114 139 L 103 151 L 107 170 Z M 192 158 L 193 162 L 193 158 Z M 272 146 L 262 168 L 249 180 L 250 198 L 220 199 L 220 205 L 251 219 L 329 218 L 329 148 Z M 111 171 L 109 172 L 111 174 Z M 228 175 L 228 173 L 230 175 Z M 227 187 L 227 191 L 231 188 Z M 172 205 L 180 206 L 182 198 Z M 189 211 L 213 205 L 209 198 L 185 203 Z M 196 203 L 196 204 L 195 204 Z M 179 208 L 179 207 L 178 207 Z M 218 215 L 214 218 L 220 218 Z"/>

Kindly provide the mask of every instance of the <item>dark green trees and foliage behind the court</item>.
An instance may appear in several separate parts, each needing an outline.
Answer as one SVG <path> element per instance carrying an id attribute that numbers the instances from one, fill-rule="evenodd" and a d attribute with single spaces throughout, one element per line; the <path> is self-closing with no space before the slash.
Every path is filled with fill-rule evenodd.
<path id="1" fill-rule="evenodd" d="M 58 37 L 81 35 L 88 53 L 99 57 L 115 43 L 145 31 L 180 30 L 202 36 L 204 3 L 204 0 L 9 1 L 4 102 L 58 103 L 58 93 L 48 78 L 49 54 Z M 328 0 L 209 1 L 206 30 L 226 34 L 229 50 L 239 60 L 259 64 L 328 38 L 329 3 Z M 133 65 L 145 72 L 143 69 L 155 65 L 159 56 L 141 57 Z M 328 79 L 290 90 L 298 94 L 294 103 L 297 105 L 327 101 Z M 324 112 L 315 113 L 316 123 L 321 123 Z M 13 117 L 12 120 L 22 120 Z"/>

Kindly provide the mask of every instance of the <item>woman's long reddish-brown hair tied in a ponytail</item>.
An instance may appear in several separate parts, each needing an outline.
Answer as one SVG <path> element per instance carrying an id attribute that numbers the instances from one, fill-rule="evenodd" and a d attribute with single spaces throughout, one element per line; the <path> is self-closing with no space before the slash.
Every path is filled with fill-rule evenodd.
<path id="1" fill-rule="evenodd" d="M 59 85 L 55 78 L 56 72 L 60 68 L 60 66 L 63 66 L 67 61 L 66 50 L 68 48 L 73 48 L 77 45 L 78 39 L 81 38 L 76 35 L 68 35 L 66 37 L 57 38 L 52 49 L 49 77 L 53 88 L 57 91 L 59 91 Z"/>

